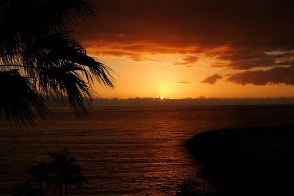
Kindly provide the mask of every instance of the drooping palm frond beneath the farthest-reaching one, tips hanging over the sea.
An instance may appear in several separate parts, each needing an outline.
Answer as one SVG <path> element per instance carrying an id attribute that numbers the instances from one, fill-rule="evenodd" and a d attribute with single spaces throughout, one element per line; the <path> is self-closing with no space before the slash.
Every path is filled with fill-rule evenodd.
<path id="1" fill-rule="evenodd" d="M 80 69 L 72 63 L 52 67 L 44 71 L 40 78 L 41 92 L 54 101 L 63 104 L 69 102 L 77 118 L 88 115 L 91 101 L 95 97 L 92 88 L 76 72 Z"/>

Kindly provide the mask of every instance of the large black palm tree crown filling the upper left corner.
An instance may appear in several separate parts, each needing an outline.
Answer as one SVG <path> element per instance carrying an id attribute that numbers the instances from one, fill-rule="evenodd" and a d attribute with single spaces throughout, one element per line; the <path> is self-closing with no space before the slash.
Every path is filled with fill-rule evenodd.
<path id="1" fill-rule="evenodd" d="M 114 73 L 73 37 L 79 21 L 97 17 L 85 0 L 0 0 L 0 118 L 34 125 L 46 102 L 69 104 L 77 118 L 97 97 L 95 81 L 114 88 Z M 5 84 L 5 85 L 4 85 Z"/>

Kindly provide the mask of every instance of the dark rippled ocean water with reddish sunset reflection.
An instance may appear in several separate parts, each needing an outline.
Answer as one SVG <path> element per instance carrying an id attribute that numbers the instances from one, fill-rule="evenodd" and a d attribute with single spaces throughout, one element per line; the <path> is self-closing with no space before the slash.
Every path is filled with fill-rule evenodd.
<path id="1" fill-rule="evenodd" d="M 200 167 L 184 146 L 212 129 L 293 124 L 294 105 L 218 107 L 98 107 L 77 121 L 68 109 L 30 129 L 0 125 L 0 193 L 28 176 L 48 151 L 70 149 L 88 182 L 76 196 L 161 196 L 160 185 L 195 177 Z M 53 191 L 53 190 L 50 190 Z"/>

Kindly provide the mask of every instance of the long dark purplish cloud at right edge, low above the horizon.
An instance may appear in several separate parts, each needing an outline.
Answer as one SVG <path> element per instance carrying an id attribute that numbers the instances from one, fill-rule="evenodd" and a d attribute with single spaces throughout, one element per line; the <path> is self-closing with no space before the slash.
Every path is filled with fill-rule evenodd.
<path id="1" fill-rule="evenodd" d="M 246 71 L 236 73 L 227 78 L 228 82 L 236 84 L 286 84 L 294 85 L 294 66 L 290 67 L 275 67 L 267 71 Z"/>

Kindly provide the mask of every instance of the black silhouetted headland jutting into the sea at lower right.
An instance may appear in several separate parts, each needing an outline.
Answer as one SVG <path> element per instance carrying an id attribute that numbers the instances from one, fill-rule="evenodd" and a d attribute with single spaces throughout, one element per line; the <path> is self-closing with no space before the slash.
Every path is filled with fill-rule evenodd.
<path id="1" fill-rule="evenodd" d="M 294 193 L 294 125 L 213 130 L 186 146 L 220 195 Z"/>

